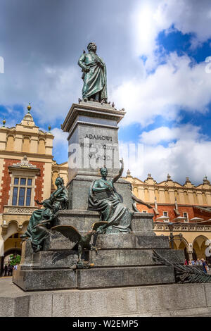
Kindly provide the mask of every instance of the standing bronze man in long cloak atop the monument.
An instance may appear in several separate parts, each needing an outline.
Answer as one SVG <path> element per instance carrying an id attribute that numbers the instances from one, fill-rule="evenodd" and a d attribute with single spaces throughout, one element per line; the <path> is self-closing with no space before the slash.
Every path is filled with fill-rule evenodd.
<path id="1" fill-rule="evenodd" d="M 89 53 L 84 52 L 78 61 L 78 65 L 83 72 L 83 99 L 84 101 L 93 99 L 94 101 L 107 103 L 106 64 L 96 54 L 96 44 L 94 42 L 89 42 L 87 49 Z"/>

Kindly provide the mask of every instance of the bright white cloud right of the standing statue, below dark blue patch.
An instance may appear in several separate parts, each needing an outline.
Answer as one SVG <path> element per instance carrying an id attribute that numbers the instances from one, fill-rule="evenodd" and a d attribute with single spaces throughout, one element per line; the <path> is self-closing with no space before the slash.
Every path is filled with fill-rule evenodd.
<path id="1" fill-rule="evenodd" d="M 145 126 L 158 115 L 177 120 L 180 109 L 205 113 L 211 101 L 210 75 L 205 72 L 206 63 L 190 64 L 188 56 L 172 53 L 151 75 L 122 82 L 112 95 L 127 111 L 122 125 Z"/>

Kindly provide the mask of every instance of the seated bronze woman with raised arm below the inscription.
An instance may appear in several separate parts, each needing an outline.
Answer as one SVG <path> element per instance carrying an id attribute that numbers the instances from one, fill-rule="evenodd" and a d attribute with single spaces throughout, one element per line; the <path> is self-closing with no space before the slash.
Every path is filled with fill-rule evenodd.
<path id="1" fill-rule="evenodd" d="M 101 168 L 101 179 L 92 182 L 89 190 L 89 210 L 99 211 L 101 220 L 107 224 L 98 227 L 98 233 L 130 232 L 133 211 L 122 204 L 120 195 L 116 192 L 114 183 L 123 172 L 123 160 L 119 174 L 112 180 L 107 179 L 108 170 Z"/>

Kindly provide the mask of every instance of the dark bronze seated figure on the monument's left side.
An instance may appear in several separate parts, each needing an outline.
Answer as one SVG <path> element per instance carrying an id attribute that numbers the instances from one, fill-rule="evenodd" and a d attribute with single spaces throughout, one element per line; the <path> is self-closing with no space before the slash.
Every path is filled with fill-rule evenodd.
<path id="1" fill-rule="evenodd" d="M 49 199 L 42 202 L 36 200 L 37 204 L 44 208 L 32 213 L 26 232 L 20 236 L 22 239 L 30 238 L 34 252 L 42 249 L 44 239 L 49 235 L 45 226 L 51 227 L 52 220 L 59 209 L 68 208 L 68 190 L 64 186 L 63 178 L 57 177 L 55 185 L 57 189 L 51 193 Z"/>

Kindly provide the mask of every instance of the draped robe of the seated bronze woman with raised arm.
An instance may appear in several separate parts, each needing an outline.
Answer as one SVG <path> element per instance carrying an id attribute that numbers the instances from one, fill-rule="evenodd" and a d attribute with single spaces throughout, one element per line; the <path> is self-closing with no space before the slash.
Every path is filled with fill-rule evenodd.
<path id="1" fill-rule="evenodd" d="M 101 213 L 101 220 L 108 222 L 108 225 L 103 225 L 98 228 L 99 232 L 105 232 L 105 230 L 120 230 L 121 232 L 131 231 L 130 225 L 132 221 L 132 212 L 122 204 L 120 195 L 117 194 L 115 187 L 113 186 L 113 180 L 109 180 L 109 185 L 113 188 L 113 192 L 108 199 L 97 201 L 94 196 L 92 182 L 89 189 L 89 206 L 88 209 L 92 211 L 99 211 Z M 101 181 L 103 185 L 103 181 Z M 106 188 L 106 185 L 104 185 Z"/>

